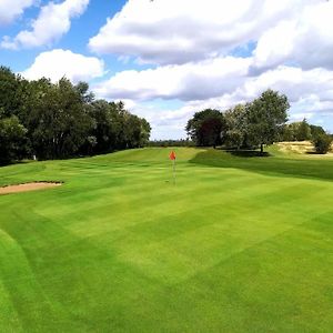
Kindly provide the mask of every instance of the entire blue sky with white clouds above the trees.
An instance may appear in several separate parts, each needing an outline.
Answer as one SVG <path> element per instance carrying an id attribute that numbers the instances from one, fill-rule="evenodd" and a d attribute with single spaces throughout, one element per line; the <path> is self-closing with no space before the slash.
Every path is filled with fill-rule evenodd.
<path id="1" fill-rule="evenodd" d="M 271 88 L 333 132 L 333 4 L 324 0 L 1 0 L 0 63 L 27 79 L 88 81 L 153 139 Z"/>

